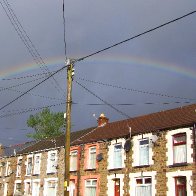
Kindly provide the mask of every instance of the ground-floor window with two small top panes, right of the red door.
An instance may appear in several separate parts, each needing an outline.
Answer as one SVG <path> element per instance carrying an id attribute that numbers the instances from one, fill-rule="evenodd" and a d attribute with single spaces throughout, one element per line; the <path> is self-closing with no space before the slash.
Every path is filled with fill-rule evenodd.
<path id="1" fill-rule="evenodd" d="M 152 179 L 151 177 L 136 178 L 136 196 L 151 196 L 152 195 Z"/>

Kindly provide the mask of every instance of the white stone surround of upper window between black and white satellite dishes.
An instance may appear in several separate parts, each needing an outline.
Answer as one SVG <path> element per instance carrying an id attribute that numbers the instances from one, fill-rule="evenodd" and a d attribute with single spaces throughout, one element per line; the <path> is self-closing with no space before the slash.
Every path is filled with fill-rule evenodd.
<path id="1" fill-rule="evenodd" d="M 152 133 L 146 133 L 143 135 L 133 136 L 133 154 L 132 154 L 132 160 L 133 160 L 132 166 L 133 167 L 142 166 L 140 165 L 140 162 L 139 162 L 139 153 L 140 153 L 139 152 L 139 146 L 140 146 L 139 141 L 141 141 L 142 139 L 150 138 L 151 136 L 152 136 Z M 149 145 L 149 164 L 148 165 L 154 164 L 154 160 L 152 159 L 152 157 L 153 157 L 153 148 L 152 146 Z"/>

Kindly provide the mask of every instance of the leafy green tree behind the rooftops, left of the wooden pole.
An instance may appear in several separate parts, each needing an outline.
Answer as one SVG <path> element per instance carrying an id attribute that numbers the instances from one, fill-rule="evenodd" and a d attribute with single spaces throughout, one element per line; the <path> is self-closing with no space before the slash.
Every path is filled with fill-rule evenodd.
<path id="1" fill-rule="evenodd" d="M 63 134 L 64 122 L 63 112 L 54 113 L 45 108 L 35 115 L 30 115 L 27 125 L 33 128 L 35 133 L 29 133 L 27 137 L 40 140 L 60 136 Z"/>

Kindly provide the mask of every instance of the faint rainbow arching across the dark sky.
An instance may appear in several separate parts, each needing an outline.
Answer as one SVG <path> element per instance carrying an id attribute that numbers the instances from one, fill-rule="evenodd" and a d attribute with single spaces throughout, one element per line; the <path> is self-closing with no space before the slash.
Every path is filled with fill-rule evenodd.
<path id="1" fill-rule="evenodd" d="M 101 57 L 91 57 L 89 59 L 85 59 L 84 62 L 86 64 L 90 64 L 93 66 L 94 64 L 99 63 L 103 64 L 104 66 L 107 66 L 109 64 L 118 64 L 118 65 L 137 65 L 137 66 L 143 66 L 143 67 L 149 67 L 151 69 L 157 69 L 157 70 L 162 70 L 165 72 L 170 72 L 173 74 L 177 75 L 182 75 L 191 79 L 196 79 L 196 70 L 193 68 L 185 67 L 182 65 L 176 65 L 174 63 L 165 63 L 161 61 L 156 61 L 156 60 L 150 60 L 150 59 L 145 59 L 137 56 L 104 56 L 102 55 Z M 80 62 L 79 62 L 80 63 Z M 64 58 L 63 57 L 55 57 L 55 58 L 50 58 L 47 62 L 46 65 L 48 67 L 51 67 L 52 69 L 58 69 L 62 67 L 64 64 Z M 1 70 L 0 72 L 0 79 L 6 78 L 6 77 L 11 77 L 14 75 L 18 74 L 24 74 L 25 72 L 29 71 L 36 71 L 39 70 L 39 66 L 35 63 L 26 63 L 23 65 L 15 65 L 10 68 L 6 68 L 4 70 Z"/>

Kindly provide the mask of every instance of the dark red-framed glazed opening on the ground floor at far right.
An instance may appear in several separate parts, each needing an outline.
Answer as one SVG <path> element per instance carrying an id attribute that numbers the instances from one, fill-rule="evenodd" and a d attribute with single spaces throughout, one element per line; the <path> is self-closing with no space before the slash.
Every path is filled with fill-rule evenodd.
<path id="1" fill-rule="evenodd" d="M 176 196 L 186 196 L 186 177 L 180 176 L 175 178 L 175 191 Z"/>

